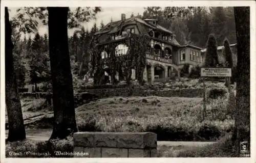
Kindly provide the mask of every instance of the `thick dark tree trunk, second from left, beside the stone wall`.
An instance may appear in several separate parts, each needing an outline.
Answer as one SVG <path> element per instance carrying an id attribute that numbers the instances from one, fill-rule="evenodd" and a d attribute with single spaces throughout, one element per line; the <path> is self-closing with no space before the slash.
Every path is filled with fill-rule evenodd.
<path id="1" fill-rule="evenodd" d="M 68 48 L 68 7 L 49 7 L 49 52 L 53 88 L 54 125 L 50 139 L 77 132 Z"/>

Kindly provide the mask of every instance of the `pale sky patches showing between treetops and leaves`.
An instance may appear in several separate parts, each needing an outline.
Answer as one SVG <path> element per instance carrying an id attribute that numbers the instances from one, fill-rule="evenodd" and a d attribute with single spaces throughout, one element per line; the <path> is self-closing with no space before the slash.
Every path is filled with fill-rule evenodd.
<path id="1" fill-rule="evenodd" d="M 9 9 L 11 10 L 9 12 L 10 19 L 11 19 L 13 16 L 17 14 L 16 13 L 17 8 L 9 8 Z M 103 23 L 106 25 L 107 23 L 110 22 L 111 17 L 113 21 L 120 20 L 122 13 L 126 15 L 126 18 L 129 18 L 132 13 L 134 13 L 134 15 L 136 16 L 138 13 L 142 15 L 144 11 L 143 7 L 104 7 L 102 9 L 103 11 L 97 14 L 96 21 L 91 20 L 90 22 L 86 22 L 82 24 L 85 29 L 88 29 L 90 31 L 95 22 L 98 27 L 100 26 L 101 21 L 103 21 Z M 37 30 L 40 35 L 44 35 L 45 33 L 48 34 L 48 26 L 46 25 L 42 25 L 39 23 Z M 73 35 L 75 30 L 76 29 L 68 30 L 69 37 Z M 26 34 L 26 37 L 28 36 L 29 34 Z M 31 37 L 33 38 L 34 34 L 31 34 Z"/>

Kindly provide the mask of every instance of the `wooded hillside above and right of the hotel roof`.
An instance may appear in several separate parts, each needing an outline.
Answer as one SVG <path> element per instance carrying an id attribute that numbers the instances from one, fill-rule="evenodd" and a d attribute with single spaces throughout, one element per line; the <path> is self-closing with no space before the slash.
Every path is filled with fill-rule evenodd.
<path id="1" fill-rule="evenodd" d="M 236 42 L 232 7 L 147 7 L 143 18 L 158 19 L 164 28 L 172 30 L 180 44 L 206 47 L 207 37 L 214 32 L 217 41 L 227 37 Z"/>

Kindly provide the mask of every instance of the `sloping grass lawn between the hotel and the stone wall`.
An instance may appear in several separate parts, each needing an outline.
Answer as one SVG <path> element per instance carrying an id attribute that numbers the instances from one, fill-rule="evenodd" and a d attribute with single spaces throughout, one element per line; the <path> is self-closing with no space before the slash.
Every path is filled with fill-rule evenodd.
<path id="1" fill-rule="evenodd" d="M 202 98 L 112 97 L 76 108 L 79 131 L 142 132 L 158 135 L 158 141 L 216 141 L 232 131 L 234 120 L 227 97 L 209 100 L 202 121 Z M 53 118 L 31 124 L 52 128 Z"/>

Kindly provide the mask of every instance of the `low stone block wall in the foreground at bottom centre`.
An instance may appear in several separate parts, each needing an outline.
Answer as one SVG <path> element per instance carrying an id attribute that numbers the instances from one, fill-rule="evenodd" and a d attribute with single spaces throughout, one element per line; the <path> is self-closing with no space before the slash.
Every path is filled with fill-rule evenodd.
<path id="1" fill-rule="evenodd" d="M 83 154 L 81 154 L 83 153 Z M 152 132 L 76 132 L 74 157 L 156 157 Z"/>

